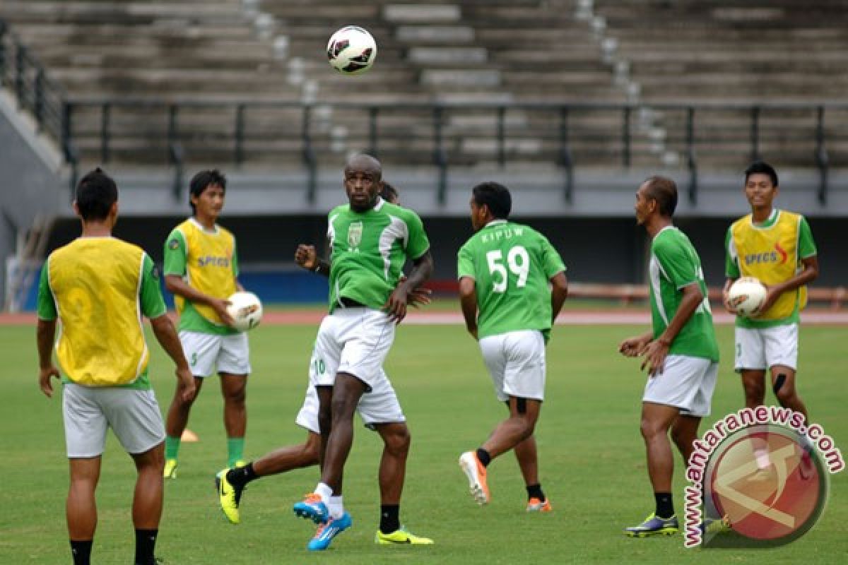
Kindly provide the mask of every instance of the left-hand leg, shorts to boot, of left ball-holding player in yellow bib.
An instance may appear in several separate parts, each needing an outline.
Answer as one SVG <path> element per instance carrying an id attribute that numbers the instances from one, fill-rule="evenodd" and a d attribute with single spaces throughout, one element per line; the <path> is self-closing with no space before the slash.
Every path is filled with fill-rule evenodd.
<path id="1" fill-rule="evenodd" d="M 194 401 L 200 397 L 204 377 L 212 374 L 215 368 L 215 359 L 220 350 L 221 336 L 195 331 L 181 331 L 180 343 L 192 368 L 197 393 L 191 400 L 186 401 L 183 400 L 178 388 L 176 386 L 174 388 L 174 397 L 170 402 L 168 415 L 165 418 L 165 470 L 163 473 L 166 479 L 176 478 L 176 465 L 180 453 L 182 432 L 186 430 L 188 425 L 188 416 L 191 413 Z"/>

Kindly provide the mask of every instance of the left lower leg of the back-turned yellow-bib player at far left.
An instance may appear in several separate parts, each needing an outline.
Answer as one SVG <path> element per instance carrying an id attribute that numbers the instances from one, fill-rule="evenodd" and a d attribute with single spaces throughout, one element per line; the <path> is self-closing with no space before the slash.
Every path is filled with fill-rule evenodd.
<path id="1" fill-rule="evenodd" d="M 88 565 L 91 560 L 94 530 L 98 525 L 98 509 L 94 491 L 100 479 L 100 456 L 74 457 L 70 464 L 70 485 L 65 504 L 70 550 L 75 565 Z"/>

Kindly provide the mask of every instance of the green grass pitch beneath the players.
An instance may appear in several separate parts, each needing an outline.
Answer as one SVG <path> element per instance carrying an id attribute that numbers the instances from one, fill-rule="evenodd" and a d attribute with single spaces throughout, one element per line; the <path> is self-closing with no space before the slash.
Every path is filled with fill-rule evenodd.
<path id="1" fill-rule="evenodd" d="M 248 458 L 303 440 L 293 424 L 303 399 L 314 326 L 267 326 L 251 334 L 254 375 L 248 386 Z M 428 547 L 375 546 L 379 511 L 376 435 L 357 426 L 345 473 L 345 503 L 354 527 L 323 554 L 305 551 L 310 523 L 291 505 L 316 482 L 304 469 L 249 486 L 242 524 L 226 523 L 213 475 L 225 461 L 221 401 L 209 382 L 189 427 L 201 441 L 184 444 L 179 478 L 165 487 L 159 555 L 176 563 L 845 563 L 848 562 L 848 474 L 832 478 L 831 497 L 816 528 L 774 550 L 684 550 L 683 538 L 632 540 L 623 526 L 653 508 L 639 435 L 644 376 L 616 354 L 622 338 L 644 328 L 560 327 L 548 349 L 547 400 L 537 428 L 542 484 L 555 512 L 527 515 L 515 460 L 490 467 L 493 501 L 477 507 L 456 465 L 505 414 L 494 401 L 477 347 L 460 326 L 401 327 L 387 370 L 413 435 L 401 507 L 402 521 L 431 536 Z M 711 424 L 743 400 L 731 369 L 733 330 L 718 328 L 722 370 Z M 0 563 L 70 562 L 64 524 L 67 463 L 61 400 L 47 400 L 36 383 L 35 331 L 0 327 L 3 343 L 4 429 L 0 435 Z M 801 331 L 801 393 L 812 414 L 848 454 L 848 328 Z M 175 379 L 153 346 L 151 375 L 165 410 Z M 702 426 L 706 429 L 706 425 Z M 683 506 L 679 459 L 675 504 Z M 96 563 L 130 563 L 134 468 L 110 437 L 98 489 Z"/>

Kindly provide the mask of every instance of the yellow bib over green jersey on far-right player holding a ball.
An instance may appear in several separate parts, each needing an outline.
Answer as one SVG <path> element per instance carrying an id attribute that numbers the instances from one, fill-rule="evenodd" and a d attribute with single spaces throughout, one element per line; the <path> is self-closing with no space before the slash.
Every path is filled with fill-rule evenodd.
<path id="1" fill-rule="evenodd" d="M 810 225 L 804 216 L 774 209 L 762 224 L 751 214 L 736 220 L 725 237 L 725 274 L 729 279 L 756 277 L 777 285 L 801 272 L 801 259 L 817 255 Z M 795 324 L 806 306 L 806 287 L 784 292 L 774 305 L 755 319 L 736 317 L 740 328 L 771 328 Z"/>

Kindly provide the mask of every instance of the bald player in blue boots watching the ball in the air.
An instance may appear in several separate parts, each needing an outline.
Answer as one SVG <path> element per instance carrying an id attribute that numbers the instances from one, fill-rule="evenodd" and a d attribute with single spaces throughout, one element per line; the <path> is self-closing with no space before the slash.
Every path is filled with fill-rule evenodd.
<path id="1" fill-rule="evenodd" d="M 310 368 L 319 398 L 321 481 L 293 507 L 298 516 L 321 524 L 307 546 L 313 551 L 326 549 L 352 523 L 343 506 L 342 475 L 353 443 L 354 411 L 363 395 L 385 390 L 382 363 L 394 340 L 394 326 L 404 319 L 412 291 L 432 273 L 430 242 L 421 219 L 379 197 L 382 167 L 377 159 L 351 158 L 343 185 L 349 203 L 328 216 L 330 262 L 317 260 L 313 246 L 300 245 L 295 252 L 298 264 L 314 265 L 315 272 L 330 277 L 330 313 L 318 330 Z M 401 280 L 406 259 L 412 269 Z M 393 406 L 384 408 L 378 421 L 398 421 Z M 381 465 L 386 478 L 381 480 L 383 501 L 399 501 L 404 470 L 404 464 Z M 382 511 L 399 512 L 392 506 Z M 397 518 L 392 521 L 399 523 Z"/>

